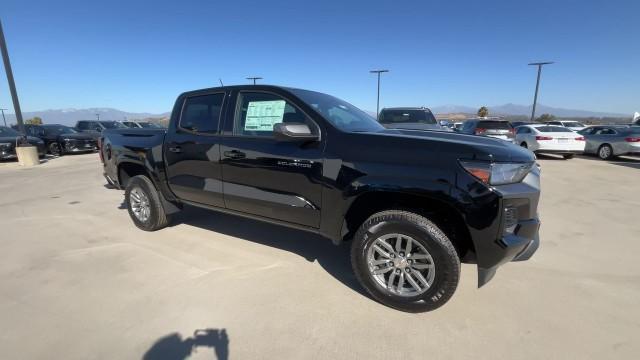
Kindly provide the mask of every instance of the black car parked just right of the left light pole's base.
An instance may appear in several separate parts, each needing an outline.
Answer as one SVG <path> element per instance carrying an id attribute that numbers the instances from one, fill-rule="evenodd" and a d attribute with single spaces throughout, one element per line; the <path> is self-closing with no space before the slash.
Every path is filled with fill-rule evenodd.
<path id="1" fill-rule="evenodd" d="M 27 135 L 44 141 L 51 155 L 61 156 L 70 153 L 95 151 L 96 140 L 88 135 L 59 124 L 25 125 Z"/>

